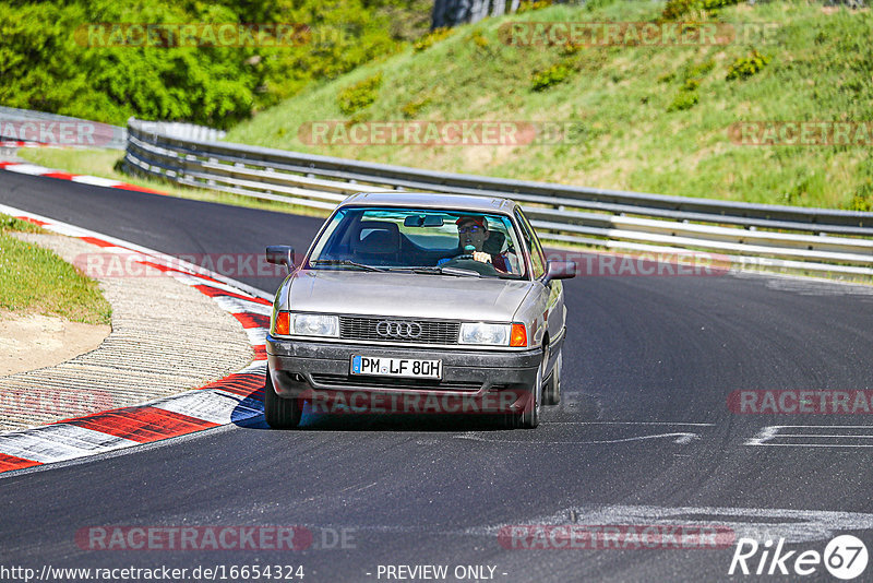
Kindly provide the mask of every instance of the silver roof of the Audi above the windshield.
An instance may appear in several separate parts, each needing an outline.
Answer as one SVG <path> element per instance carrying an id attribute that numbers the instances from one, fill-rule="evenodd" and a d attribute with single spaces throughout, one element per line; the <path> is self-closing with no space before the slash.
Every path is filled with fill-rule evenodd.
<path id="1" fill-rule="evenodd" d="M 444 192 L 359 192 L 339 203 L 343 206 L 415 206 L 419 209 L 440 209 L 445 211 L 471 211 L 478 213 L 500 212 L 512 214 L 515 201 L 498 197 L 475 194 L 446 194 Z"/>

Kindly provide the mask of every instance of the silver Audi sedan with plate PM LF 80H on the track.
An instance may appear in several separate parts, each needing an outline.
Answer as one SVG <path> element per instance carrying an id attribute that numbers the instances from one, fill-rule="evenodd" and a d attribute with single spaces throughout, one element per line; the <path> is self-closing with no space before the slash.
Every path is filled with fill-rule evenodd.
<path id="1" fill-rule="evenodd" d="M 360 193 L 288 266 L 266 337 L 273 428 L 312 413 L 498 414 L 539 424 L 561 391 L 562 282 L 513 201 Z"/>

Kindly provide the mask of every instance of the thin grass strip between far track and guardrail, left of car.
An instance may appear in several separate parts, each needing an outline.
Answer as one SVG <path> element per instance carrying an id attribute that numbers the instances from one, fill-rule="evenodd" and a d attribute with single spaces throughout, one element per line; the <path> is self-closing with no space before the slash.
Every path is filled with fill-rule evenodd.
<path id="1" fill-rule="evenodd" d="M 60 168 L 72 174 L 84 174 L 98 176 L 100 178 L 110 178 L 112 180 L 121 180 L 122 182 L 157 190 L 180 199 L 216 202 L 220 204 L 231 204 L 234 206 L 248 206 L 250 209 L 262 209 L 265 211 L 294 213 L 298 215 L 327 216 L 326 211 L 310 209 L 309 206 L 285 204 L 282 202 L 253 199 L 213 190 L 188 188 L 175 185 L 168 180 L 127 175 L 116 170 L 117 163 L 123 157 L 123 154 L 116 150 L 34 147 L 21 148 L 17 155 L 28 162 L 49 168 Z"/>

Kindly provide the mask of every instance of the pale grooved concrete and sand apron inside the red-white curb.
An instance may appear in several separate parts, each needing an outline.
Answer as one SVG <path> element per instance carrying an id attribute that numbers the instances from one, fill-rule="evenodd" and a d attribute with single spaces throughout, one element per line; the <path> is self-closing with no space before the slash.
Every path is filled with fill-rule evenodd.
<path id="1" fill-rule="evenodd" d="M 70 263 L 84 253 L 105 252 L 75 237 L 15 236 Z M 68 323 L 45 317 L 33 318 L 29 326 L 22 319 L 29 332 L 22 332 L 22 322 L 14 330 L 0 328 L 0 356 L 12 353 L 12 365 L 29 369 L 0 369 L 0 432 L 177 394 L 252 361 L 249 336 L 239 321 L 198 289 L 167 276 L 97 281 L 112 307 L 108 336 L 109 326 L 103 326 L 91 343 L 76 346 L 75 333 L 61 332 Z M 87 328 L 100 326 L 80 331 Z M 14 350 L 11 341 L 16 341 Z"/>

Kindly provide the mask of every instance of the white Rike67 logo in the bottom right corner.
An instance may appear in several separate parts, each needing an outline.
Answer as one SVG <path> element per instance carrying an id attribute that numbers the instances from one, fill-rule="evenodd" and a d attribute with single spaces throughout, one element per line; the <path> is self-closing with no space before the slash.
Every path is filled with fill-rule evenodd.
<path id="1" fill-rule="evenodd" d="M 773 540 L 761 545 L 753 538 L 740 538 L 728 574 L 805 576 L 815 573 L 824 564 L 833 576 L 850 581 L 866 569 L 866 546 L 852 535 L 833 538 L 824 554 L 817 550 L 784 550 L 784 547 L 785 538 L 780 538 L 775 548 Z"/>

